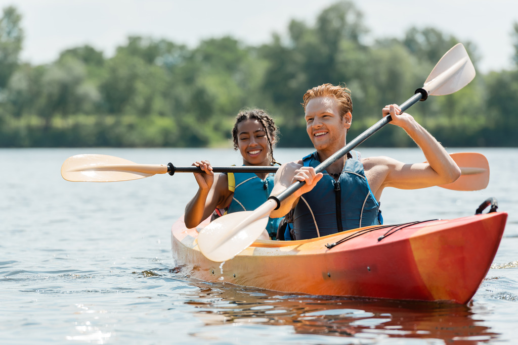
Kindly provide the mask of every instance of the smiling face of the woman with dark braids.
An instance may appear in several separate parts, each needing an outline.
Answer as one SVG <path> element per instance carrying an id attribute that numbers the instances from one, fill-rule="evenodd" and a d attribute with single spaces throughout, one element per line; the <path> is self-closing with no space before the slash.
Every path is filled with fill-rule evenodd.
<path id="1" fill-rule="evenodd" d="M 266 130 L 258 120 L 246 119 L 237 125 L 237 145 L 244 165 L 270 165 L 270 145 Z"/>

